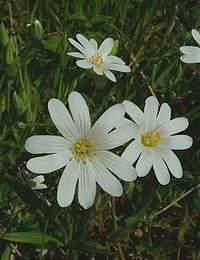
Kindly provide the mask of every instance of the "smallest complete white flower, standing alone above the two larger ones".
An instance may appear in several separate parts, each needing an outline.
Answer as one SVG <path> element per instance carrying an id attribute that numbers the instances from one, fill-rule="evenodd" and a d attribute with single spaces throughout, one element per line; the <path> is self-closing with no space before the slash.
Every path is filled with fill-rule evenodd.
<path id="1" fill-rule="evenodd" d="M 80 58 L 76 62 L 77 66 L 84 69 L 93 68 L 98 75 L 103 75 L 111 81 L 116 82 L 116 78 L 111 70 L 130 72 L 129 66 L 117 56 L 109 55 L 113 48 L 113 39 L 107 38 L 98 48 L 98 44 L 94 39 L 87 40 L 82 34 L 77 34 L 76 38 L 79 42 L 69 38 L 69 41 L 79 52 L 69 52 L 68 55 Z"/>

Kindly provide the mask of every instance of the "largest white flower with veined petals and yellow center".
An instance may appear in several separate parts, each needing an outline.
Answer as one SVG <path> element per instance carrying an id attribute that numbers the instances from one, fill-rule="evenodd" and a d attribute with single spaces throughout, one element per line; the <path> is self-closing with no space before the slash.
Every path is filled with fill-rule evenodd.
<path id="1" fill-rule="evenodd" d="M 48 155 L 29 160 L 27 168 L 44 174 L 66 166 L 58 185 L 58 203 L 61 207 L 71 204 L 78 182 L 79 203 L 86 209 L 94 202 L 96 183 L 109 194 L 121 196 L 122 185 L 113 174 L 125 181 L 136 179 L 132 165 L 108 151 L 130 140 L 135 126 L 114 129 L 125 113 L 122 104 L 110 107 L 91 126 L 83 97 L 72 92 L 68 101 L 72 116 L 58 99 L 49 101 L 51 119 L 63 137 L 36 135 L 28 138 L 25 143 L 28 152 Z"/>

